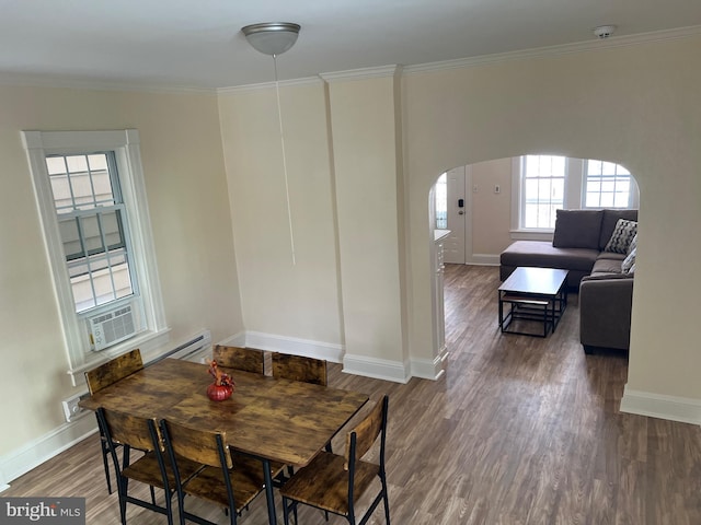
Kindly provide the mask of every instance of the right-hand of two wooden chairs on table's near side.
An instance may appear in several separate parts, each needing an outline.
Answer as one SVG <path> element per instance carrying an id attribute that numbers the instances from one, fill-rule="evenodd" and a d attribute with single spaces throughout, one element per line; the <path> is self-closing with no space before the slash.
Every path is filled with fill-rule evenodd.
<path id="1" fill-rule="evenodd" d="M 241 511 L 265 490 L 263 462 L 253 457 L 233 455 L 227 444 L 226 432 L 194 429 L 169 420 L 161 420 L 161 432 L 168 450 L 175 479 L 180 523 L 189 520 L 203 525 L 216 525 L 185 509 L 185 495 L 215 503 L 237 524 Z M 191 460 L 205 467 L 191 478 L 183 476 L 181 462 Z M 276 476 L 281 465 L 272 465 Z"/>

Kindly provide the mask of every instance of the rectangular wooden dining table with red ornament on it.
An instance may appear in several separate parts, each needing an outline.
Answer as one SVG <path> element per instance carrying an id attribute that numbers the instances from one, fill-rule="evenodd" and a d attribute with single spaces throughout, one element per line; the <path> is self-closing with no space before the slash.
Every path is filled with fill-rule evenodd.
<path id="1" fill-rule="evenodd" d="M 301 467 L 363 408 L 368 396 L 232 369 L 228 399 L 212 401 L 208 365 L 162 359 L 82 399 L 80 407 L 166 419 L 197 429 L 223 431 L 235 452 L 257 457 L 265 475 L 268 521 L 277 523 L 271 462 Z"/>

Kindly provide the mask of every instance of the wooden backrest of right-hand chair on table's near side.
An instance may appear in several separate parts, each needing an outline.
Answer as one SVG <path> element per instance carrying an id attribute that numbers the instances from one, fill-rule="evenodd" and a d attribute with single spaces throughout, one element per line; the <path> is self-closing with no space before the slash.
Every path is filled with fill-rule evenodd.
<path id="1" fill-rule="evenodd" d="M 226 432 L 193 429 L 166 420 L 161 421 L 161 430 L 166 446 L 176 457 L 210 467 L 233 468 Z"/>

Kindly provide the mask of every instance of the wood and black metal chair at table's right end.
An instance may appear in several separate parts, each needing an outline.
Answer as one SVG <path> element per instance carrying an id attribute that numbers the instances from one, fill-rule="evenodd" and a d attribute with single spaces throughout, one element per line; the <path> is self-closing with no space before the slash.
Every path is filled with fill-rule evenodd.
<path id="1" fill-rule="evenodd" d="M 389 397 L 379 400 L 369 413 L 346 435 L 345 455 L 321 452 L 306 467 L 300 468 L 280 489 L 285 525 L 289 525 L 289 511 L 303 503 L 344 516 L 350 525 L 364 525 L 380 503 L 384 503 L 384 521 L 390 525 L 390 508 L 384 470 L 387 413 Z M 361 457 L 380 438 L 378 464 Z M 358 499 L 379 477 L 380 489 L 359 522 L 355 505 Z"/>

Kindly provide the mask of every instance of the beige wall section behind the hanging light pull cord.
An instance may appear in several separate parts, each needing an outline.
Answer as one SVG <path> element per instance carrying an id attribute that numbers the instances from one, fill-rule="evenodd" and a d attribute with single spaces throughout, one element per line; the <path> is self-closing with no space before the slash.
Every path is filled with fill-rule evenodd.
<path id="1" fill-rule="evenodd" d="M 246 330 L 340 346 L 324 85 L 280 89 L 295 265 L 275 90 L 222 94 L 219 104 Z"/>

